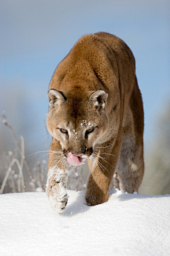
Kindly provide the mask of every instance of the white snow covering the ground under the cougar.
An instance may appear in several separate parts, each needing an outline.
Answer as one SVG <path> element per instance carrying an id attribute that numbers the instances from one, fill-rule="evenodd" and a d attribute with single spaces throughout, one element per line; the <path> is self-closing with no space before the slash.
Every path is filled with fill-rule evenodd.
<path id="1" fill-rule="evenodd" d="M 86 206 L 84 191 L 68 191 L 60 215 L 44 192 L 0 196 L 0 255 L 167 256 L 170 195 L 111 190 L 107 203 Z"/>

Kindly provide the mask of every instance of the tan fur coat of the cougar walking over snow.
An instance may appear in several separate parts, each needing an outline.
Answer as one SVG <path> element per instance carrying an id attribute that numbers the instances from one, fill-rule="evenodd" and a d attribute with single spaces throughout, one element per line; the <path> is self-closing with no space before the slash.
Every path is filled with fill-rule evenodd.
<path id="1" fill-rule="evenodd" d="M 108 201 L 115 171 L 117 187 L 137 191 L 144 173 L 144 113 L 130 48 L 108 33 L 83 36 L 57 66 L 48 97 L 49 169 L 67 173 L 69 151 L 90 157 L 86 202 L 91 206 Z M 47 183 L 47 196 L 55 198 L 52 187 L 58 191 L 60 182 L 53 179 Z M 67 204 L 63 198 L 59 212 Z"/>

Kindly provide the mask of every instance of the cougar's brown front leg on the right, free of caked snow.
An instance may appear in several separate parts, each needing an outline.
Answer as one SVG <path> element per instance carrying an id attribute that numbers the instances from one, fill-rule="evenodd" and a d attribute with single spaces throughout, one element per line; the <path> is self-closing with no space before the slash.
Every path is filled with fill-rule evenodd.
<path id="1" fill-rule="evenodd" d="M 92 155 L 92 168 L 89 181 L 86 186 L 86 203 L 96 206 L 105 203 L 109 198 L 109 186 L 113 178 L 118 156 L 120 153 L 121 139 L 109 147 L 101 146 L 101 149 Z M 103 148 L 102 148 L 103 147 Z"/>

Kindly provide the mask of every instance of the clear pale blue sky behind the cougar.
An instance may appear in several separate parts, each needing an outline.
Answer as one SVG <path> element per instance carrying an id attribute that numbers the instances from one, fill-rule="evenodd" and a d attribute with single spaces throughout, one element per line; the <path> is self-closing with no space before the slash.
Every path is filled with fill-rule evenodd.
<path id="1" fill-rule="evenodd" d="M 135 55 L 148 145 L 170 99 L 169 28 L 165 0 L 1 0 L 0 112 L 6 110 L 16 132 L 40 150 L 46 94 L 57 64 L 81 36 L 105 31 L 123 39 Z"/>

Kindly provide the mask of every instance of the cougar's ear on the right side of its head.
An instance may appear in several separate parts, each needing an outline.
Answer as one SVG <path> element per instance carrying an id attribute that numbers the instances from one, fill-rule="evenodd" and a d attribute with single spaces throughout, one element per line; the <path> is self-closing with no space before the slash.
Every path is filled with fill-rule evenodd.
<path id="1" fill-rule="evenodd" d="M 106 100 L 108 97 L 108 93 L 104 90 L 98 90 L 93 92 L 91 97 L 89 98 L 89 102 L 95 106 L 101 106 L 103 109 L 106 106 Z"/>

